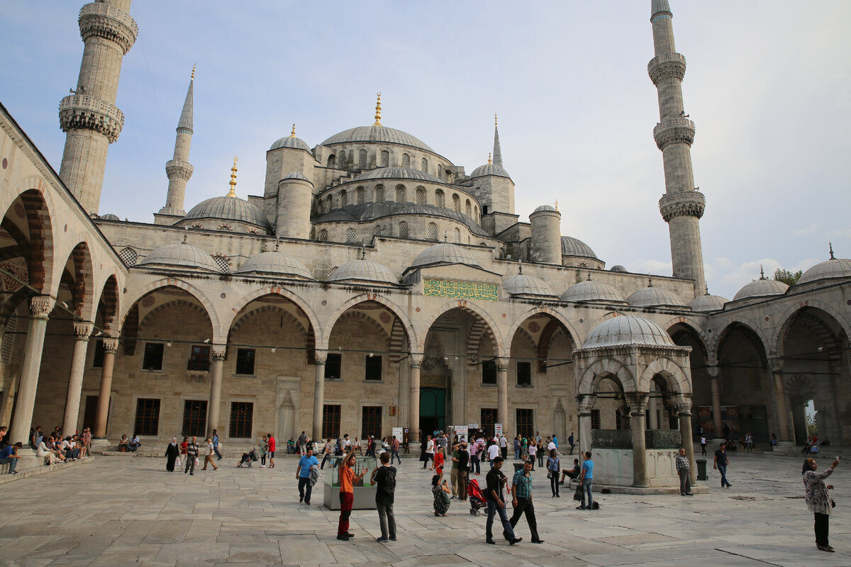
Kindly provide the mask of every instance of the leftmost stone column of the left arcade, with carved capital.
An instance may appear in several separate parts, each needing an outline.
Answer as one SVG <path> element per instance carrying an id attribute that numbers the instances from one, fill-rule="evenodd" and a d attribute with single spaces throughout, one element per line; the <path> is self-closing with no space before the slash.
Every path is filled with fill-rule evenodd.
<path id="1" fill-rule="evenodd" d="M 48 316 L 53 309 L 54 299 L 46 295 L 30 298 L 30 325 L 26 330 L 26 347 L 24 362 L 20 368 L 20 384 L 18 400 L 14 412 L 14 424 L 9 432 L 9 441 L 28 443 L 32 411 L 36 405 L 38 389 L 38 373 L 42 368 L 42 350 L 44 348 L 44 332 L 48 326 Z M 14 440 L 13 440 L 14 439 Z"/>

